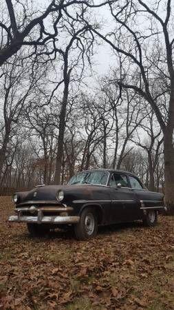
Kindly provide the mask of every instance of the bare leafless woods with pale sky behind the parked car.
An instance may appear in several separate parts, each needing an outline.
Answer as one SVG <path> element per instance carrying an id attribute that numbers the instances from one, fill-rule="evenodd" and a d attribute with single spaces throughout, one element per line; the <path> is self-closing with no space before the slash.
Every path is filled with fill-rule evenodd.
<path id="1" fill-rule="evenodd" d="M 165 187 L 172 209 L 171 1 L 4 0 L 1 12 L 1 186 L 127 169 L 151 190 Z M 104 42 L 115 63 L 91 87 Z"/>

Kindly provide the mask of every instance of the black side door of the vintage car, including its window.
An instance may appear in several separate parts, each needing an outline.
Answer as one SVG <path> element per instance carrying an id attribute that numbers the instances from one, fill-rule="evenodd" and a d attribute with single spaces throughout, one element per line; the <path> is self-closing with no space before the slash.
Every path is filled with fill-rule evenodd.
<path id="1" fill-rule="evenodd" d="M 131 222 L 137 219 L 138 200 L 130 187 L 127 174 L 113 172 L 109 179 L 109 189 L 112 223 Z"/>

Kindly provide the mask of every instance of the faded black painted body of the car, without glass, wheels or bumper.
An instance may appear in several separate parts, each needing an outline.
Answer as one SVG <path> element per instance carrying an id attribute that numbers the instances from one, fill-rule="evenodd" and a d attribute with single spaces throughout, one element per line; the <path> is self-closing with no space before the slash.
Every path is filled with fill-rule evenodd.
<path id="1" fill-rule="evenodd" d="M 113 169 L 105 169 L 105 171 L 108 171 L 110 174 L 112 172 L 120 173 L 120 171 Z M 127 176 L 134 176 L 129 172 L 121 173 Z M 64 199 L 61 203 L 58 203 L 56 194 L 60 189 L 63 189 Z M 36 205 L 36 207 L 43 207 L 44 205 L 67 205 L 73 208 L 72 211 L 69 211 L 69 215 L 71 216 L 79 216 L 84 207 L 93 206 L 98 211 L 98 216 L 101 219 L 100 224 L 102 225 L 130 222 L 143 218 L 144 212 L 141 209 L 140 200 L 144 200 L 145 207 L 163 206 L 162 194 L 149 192 L 145 188 L 142 190 L 132 189 L 131 186 L 129 188 L 117 188 L 88 184 L 48 185 L 35 187 L 29 192 L 17 194 L 19 194 L 17 207 L 24 205 Z"/>

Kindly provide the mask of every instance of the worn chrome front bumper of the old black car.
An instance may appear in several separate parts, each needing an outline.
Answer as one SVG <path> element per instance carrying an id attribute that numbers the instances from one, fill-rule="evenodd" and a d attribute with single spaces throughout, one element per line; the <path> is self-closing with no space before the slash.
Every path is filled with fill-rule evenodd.
<path id="1" fill-rule="evenodd" d="M 9 222 L 17 222 L 17 223 L 50 223 L 50 224 L 74 224 L 78 223 L 80 220 L 80 216 L 20 216 L 20 212 L 17 216 L 10 216 L 8 219 Z"/>

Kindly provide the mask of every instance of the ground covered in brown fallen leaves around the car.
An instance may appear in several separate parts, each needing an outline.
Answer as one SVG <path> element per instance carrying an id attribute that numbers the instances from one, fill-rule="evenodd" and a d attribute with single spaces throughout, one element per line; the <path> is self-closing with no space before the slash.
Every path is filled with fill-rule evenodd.
<path id="1" fill-rule="evenodd" d="M 71 231 L 30 238 L 6 222 L 12 208 L 0 198 L 0 309 L 174 309 L 174 217 L 79 242 Z"/>

